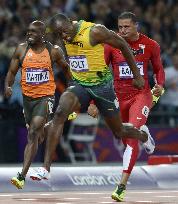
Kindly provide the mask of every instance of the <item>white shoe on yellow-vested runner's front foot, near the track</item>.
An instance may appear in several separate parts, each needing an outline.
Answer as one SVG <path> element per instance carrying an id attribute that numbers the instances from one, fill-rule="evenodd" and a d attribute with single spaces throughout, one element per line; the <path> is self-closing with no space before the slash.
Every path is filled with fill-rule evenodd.
<path id="1" fill-rule="evenodd" d="M 31 173 L 30 178 L 34 181 L 41 181 L 42 179 L 49 179 L 49 172 L 44 167 L 39 167 L 37 171 Z"/>

